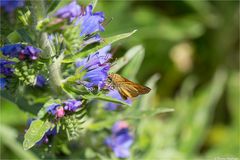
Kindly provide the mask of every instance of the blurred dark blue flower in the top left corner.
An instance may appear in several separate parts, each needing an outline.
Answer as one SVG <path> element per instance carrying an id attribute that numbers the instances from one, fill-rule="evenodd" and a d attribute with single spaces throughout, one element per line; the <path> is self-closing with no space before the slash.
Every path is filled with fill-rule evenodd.
<path id="1" fill-rule="evenodd" d="M 24 0 L 1 0 L 0 7 L 2 7 L 6 12 L 11 13 L 16 8 L 23 7 Z"/>

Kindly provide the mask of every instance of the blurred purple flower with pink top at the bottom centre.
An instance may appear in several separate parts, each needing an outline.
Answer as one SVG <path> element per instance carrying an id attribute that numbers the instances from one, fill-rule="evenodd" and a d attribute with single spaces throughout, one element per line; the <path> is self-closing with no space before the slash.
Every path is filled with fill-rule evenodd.
<path id="1" fill-rule="evenodd" d="M 133 143 L 133 136 L 129 133 L 128 124 L 118 121 L 112 127 L 112 135 L 105 139 L 105 144 L 111 148 L 118 158 L 130 156 L 129 148 Z"/>

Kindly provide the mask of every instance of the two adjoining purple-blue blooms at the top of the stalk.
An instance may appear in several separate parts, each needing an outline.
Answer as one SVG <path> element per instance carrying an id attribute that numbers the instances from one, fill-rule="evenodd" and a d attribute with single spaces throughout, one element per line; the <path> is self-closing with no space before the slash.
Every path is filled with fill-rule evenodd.
<path id="1" fill-rule="evenodd" d="M 68 19 L 70 22 L 75 21 L 75 25 L 81 26 L 80 36 L 90 35 L 97 31 L 104 31 L 102 22 L 104 21 L 103 12 L 93 13 L 93 6 L 90 4 L 86 8 L 77 4 L 76 1 L 60 8 L 56 17 Z"/>

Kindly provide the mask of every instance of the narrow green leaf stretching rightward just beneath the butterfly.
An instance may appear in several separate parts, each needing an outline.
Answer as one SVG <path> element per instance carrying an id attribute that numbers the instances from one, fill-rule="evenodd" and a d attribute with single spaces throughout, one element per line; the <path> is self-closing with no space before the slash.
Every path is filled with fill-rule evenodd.
<path id="1" fill-rule="evenodd" d="M 88 99 L 88 100 L 93 100 L 93 99 L 104 100 L 104 101 L 108 101 L 108 102 L 113 102 L 113 103 L 129 106 L 129 104 L 124 101 L 120 101 L 118 99 L 108 97 L 105 95 L 86 95 L 86 96 L 83 96 L 83 98 Z"/>

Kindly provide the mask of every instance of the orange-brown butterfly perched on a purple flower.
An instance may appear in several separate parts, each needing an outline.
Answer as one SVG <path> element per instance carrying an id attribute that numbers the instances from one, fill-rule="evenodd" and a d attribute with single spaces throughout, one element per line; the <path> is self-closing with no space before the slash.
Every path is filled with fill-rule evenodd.
<path id="1" fill-rule="evenodd" d="M 111 73 L 108 75 L 110 83 L 116 88 L 124 100 L 137 97 L 141 94 L 150 92 L 150 88 L 134 83 L 119 74 Z"/>

